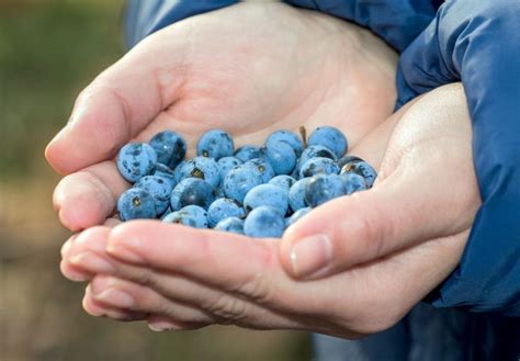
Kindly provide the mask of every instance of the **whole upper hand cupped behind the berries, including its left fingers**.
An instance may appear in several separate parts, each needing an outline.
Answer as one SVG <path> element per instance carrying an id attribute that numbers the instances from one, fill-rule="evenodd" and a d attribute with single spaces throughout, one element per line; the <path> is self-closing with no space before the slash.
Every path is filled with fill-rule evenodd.
<path id="1" fill-rule="evenodd" d="M 172 129 L 189 156 L 206 129 L 237 146 L 273 131 L 342 129 L 351 145 L 395 102 L 396 55 L 368 31 L 280 3 L 240 3 L 170 25 L 102 72 L 79 95 L 46 149 L 69 174 L 54 203 L 71 230 L 103 224 L 128 184 L 113 158 L 131 139 Z"/>

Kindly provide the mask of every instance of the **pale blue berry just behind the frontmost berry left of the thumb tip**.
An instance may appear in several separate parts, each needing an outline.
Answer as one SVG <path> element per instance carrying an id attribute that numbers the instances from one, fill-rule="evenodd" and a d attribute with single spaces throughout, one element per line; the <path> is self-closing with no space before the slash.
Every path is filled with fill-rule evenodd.
<path id="1" fill-rule="evenodd" d="M 283 215 L 289 210 L 289 192 L 273 184 L 260 184 L 251 189 L 244 199 L 244 207 L 250 212 L 259 206 L 269 205 Z"/>

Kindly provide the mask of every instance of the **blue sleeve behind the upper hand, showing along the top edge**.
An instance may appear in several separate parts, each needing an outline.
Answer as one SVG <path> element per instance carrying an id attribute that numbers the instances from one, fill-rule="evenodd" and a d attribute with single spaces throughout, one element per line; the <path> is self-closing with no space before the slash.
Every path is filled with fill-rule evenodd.
<path id="1" fill-rule="evenodd" d="M 428 26 L 438 0 L 286 0 L 284 2 L 320 11 L 369 27 L 402 52 Z M 129 0 L 125 33 L 128 46 L 147 35 L 189 16 L 221 9 L 238 0 Z"/>

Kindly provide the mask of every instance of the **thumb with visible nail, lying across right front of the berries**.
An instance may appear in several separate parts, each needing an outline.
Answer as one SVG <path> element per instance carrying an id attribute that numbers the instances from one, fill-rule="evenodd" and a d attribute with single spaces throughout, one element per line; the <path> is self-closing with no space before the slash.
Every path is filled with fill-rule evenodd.
<path id="1" fill-rule="evenodd" d="M 373 189 L 326 203 L 291 226 L 280 248 L 286 272 L 330 275 L 470 227 L 467 183 L 453 184 L 436 168 L 427 172 L 431 165 L 415 167 L 405 161 Z"/>

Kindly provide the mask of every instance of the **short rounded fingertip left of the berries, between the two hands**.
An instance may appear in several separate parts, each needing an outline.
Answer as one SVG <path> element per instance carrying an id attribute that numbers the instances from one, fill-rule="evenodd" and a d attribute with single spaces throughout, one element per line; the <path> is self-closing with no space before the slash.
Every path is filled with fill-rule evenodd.
<path id="1" fill-rule="evenodd" d="M 77 232 L 103 224 L 128 187 L 114 162 L 103 161 L 65 177 L 54 191 L 53 203 L 61 224 Z"/>

